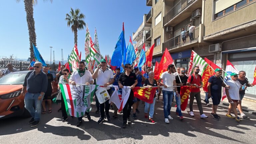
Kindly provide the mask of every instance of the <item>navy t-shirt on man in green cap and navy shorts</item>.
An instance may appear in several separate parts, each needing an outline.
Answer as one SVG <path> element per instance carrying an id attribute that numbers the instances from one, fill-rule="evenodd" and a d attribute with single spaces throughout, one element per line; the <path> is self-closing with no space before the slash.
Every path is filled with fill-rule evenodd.
<path id="1" fill-rule="evenodd" d="M 211 83 L 211 93 L 221 93 L 222 90 L 222 76 L 216 77 L 215 75 L 211 76 L 208 80 L 209 83 Z"/>

